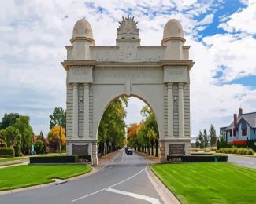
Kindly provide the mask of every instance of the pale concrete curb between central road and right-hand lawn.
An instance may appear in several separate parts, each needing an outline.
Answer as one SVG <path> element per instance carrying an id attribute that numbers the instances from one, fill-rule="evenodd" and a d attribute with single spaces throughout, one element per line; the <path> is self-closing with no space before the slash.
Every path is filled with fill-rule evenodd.
<path id="1" fill-rule="evenodd" d="M 158 191 L 158 194 L 165 204 L 180 204 L 180 201 L 176 199 L 176 197 L 171 191 L 169 191 L 168 188 L 165 187 L 165 184 L 161 183 L 161 180 L 159 180 L 158 177 L 154 175 L 149 166 L 147 166 L 145 172 L 151 184 L 153 184 L 156 191 Z"/>

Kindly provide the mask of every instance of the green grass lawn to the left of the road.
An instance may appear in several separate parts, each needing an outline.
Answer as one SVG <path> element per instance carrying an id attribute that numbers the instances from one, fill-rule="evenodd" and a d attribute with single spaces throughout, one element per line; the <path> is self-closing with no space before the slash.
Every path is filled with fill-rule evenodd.
<path id="1" fill-rule="evenodd" d="M 86 165 L 28 165 L 0 169 L 0 191 L 53 182 L 91 171 Z"/>

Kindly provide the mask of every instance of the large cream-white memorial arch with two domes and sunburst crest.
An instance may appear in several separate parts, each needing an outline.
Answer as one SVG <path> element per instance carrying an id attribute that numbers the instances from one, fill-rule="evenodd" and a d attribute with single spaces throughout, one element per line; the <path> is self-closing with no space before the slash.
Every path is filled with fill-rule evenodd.
<path id="1" fill-rule="evenodd" d="M 91 155 L 98 164 L 98 126 L 106 107 L 121 96 L 150 105 L 157 118 L 161 162 L 189 154 L 190 46 L 177 20 L 165 24 L 161 46 L 140 46 L 137 23 L 129 16 L 117 28 L 116 46 L 95 46 L 91 24 L 78 20 L 67 60 L 67 154 Z"/>

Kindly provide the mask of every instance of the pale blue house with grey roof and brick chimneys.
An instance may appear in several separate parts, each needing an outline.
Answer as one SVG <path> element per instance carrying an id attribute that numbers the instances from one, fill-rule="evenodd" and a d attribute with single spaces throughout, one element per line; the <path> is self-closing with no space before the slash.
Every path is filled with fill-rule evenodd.
<path id="1" fill-rule="evenodd" d="M 228 144 L 246 144 L 256 139 L 256 112 L 244 113 L 239 108 L 239 115 L 234 114 L 233 122 L 225 129 Z"/>

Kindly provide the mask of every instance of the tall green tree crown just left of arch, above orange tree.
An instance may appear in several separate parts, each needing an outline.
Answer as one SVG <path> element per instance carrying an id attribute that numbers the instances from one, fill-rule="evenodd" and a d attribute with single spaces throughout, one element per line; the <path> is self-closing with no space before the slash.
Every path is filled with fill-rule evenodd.
<path id="1" fill-rule="evenodd" d="M 54 126 L 59 126 L 61 124 L 61 127 L 66 126 L 65 122 L 65 111 L 62 107 L 55 107 L 54 112 L 52 115 L 50 115 L 50 129 L 53 129 Z"/>

